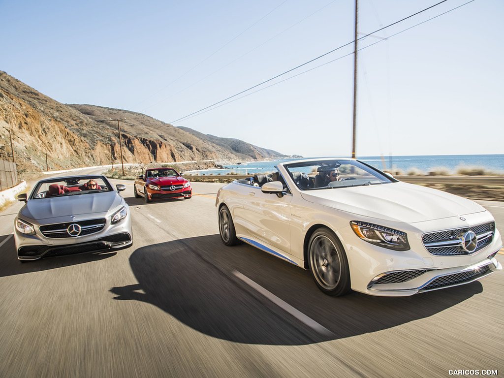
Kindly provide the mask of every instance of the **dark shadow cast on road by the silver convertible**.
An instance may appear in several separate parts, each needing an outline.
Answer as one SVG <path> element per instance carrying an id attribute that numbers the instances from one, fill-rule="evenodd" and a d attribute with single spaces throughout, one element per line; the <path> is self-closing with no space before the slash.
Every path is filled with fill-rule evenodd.
<path id="1" fill-rule="evenodd" d="M 18 274 L 40 272 L 72 265 L 85 264 L 115 256 L 116 251 L 101 254 L 83 254 L 45 258 L 35 261 L 21 262 L 16 254 L 14 236 L 0 236 L 0 242 L 6 240 L 0 249 L 0 277 L 15 276 Z"/>

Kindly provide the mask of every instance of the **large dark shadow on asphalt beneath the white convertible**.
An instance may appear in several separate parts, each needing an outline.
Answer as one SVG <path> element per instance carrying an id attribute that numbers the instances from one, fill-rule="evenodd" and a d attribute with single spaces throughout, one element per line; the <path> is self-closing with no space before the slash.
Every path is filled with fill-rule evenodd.
<path id="1" fill-rule="evenodd" d="M 479 282 L 417 294 L 334 298 L 309 273 L 247 244 L 208 235 L 139 248 L 130 257 L 138 284 L 114 287 L 116 300 L 156 305 L 212 337 L 247 344 L 305 345 L 380 331 L 430 317 L 482 292 Z M 240 272 L 319 323 L 318 333 L 238 279 Z"/>

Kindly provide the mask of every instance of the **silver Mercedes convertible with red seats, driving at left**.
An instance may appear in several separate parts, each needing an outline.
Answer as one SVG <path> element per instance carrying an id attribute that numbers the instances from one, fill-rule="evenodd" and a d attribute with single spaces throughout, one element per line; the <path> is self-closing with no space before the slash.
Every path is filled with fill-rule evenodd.
<path id="1" fill-rule="evenodd" d="M 133 233 L 128 204 L 102 175 L 37 182 L 14 221 L 18 259 L 103 253 L 128 248 Z"/>

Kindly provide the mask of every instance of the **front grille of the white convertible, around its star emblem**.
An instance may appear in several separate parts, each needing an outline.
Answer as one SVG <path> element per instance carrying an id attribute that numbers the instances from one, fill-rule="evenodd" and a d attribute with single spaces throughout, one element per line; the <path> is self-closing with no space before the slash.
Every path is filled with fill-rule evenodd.
<path id="1" fill-rule="evenodd" d="M 474 249 L 467 250 L 467 248 L 464 248 L 464 235 L 469 231 L 476 234 L 477 244 Z M 495 223 L 489 222 L 473 227 L 454 228 L 452 230 L 427 233 L 422 236 L 422 242 L 431 255 L 471 255 L 490 244 L 494 233 Z"/>

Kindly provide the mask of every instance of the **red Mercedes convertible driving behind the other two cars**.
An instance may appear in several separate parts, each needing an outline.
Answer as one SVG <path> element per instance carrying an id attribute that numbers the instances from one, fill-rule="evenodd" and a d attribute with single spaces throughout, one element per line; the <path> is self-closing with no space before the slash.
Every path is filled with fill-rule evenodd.
<path id="1" fill-rule="evenodd" d="M 137 177 L 134 185 L 135 198 L 144 197 L 145 202 L 192 196 L 191 182 L 173 168 L 146 169 Z"/>

